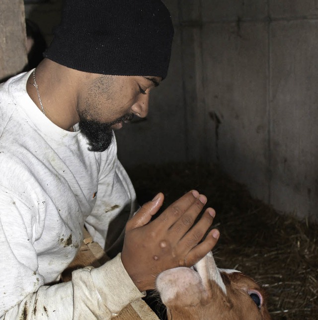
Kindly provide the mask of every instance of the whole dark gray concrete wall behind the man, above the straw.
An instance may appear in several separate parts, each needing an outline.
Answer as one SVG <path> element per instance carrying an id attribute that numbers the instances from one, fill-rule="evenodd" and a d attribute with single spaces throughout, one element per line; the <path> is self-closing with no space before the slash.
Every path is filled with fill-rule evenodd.
<path id="1" fill-rule="evenodd" d="M 163 1 L 175 26 L 171 67 L 146 121 L 116 133 L 119 158 L 218 162 L 253 196 L 318 219 L 318 2 Z M 46 12 L 48 41 L 60 3 L 26 8 Z"/>

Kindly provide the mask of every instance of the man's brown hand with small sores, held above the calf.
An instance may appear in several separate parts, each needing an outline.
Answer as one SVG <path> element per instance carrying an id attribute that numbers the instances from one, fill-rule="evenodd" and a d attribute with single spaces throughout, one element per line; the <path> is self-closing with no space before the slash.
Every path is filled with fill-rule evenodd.
<path id="1" fill-rule="evenodd" d="M 195 190 L 186 193 L 150 222 L 163 198 L 159 193 L 144 204 L 126 226 L 121 259 L 140 291 L 154 289 L 160 272 L 198 262 L 212 250 L 220 235 L 218 230 L 211 230 L 199 243 L 211 226 L 215 211 L 206 209 L 193 226 L 207 202 L 206 197 Z"/>

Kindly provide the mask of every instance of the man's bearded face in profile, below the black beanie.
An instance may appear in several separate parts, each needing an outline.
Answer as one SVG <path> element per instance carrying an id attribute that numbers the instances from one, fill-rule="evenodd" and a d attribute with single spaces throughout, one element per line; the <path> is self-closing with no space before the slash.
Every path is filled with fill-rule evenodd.
<path id="1" fill-rule="evenodd" d="M 87 137 L 90 151 L 105 151 L 120 129 L 134 115 L 148 114 L 149 92 L 160 77 L 104 76 L 92 74 L 83 103 L 79 105 L 79 128 Z"/>

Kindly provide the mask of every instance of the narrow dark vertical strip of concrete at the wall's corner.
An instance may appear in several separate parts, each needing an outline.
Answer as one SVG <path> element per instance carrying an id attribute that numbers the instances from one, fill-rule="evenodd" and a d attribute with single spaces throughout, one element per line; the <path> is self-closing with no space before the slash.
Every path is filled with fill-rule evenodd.
<path id="1" fill-rule="evenodd" d="M 203 80 L 201 8 L 196 0 L 179 2 L 186 160 L 207 161 L 206 103 Z"/>

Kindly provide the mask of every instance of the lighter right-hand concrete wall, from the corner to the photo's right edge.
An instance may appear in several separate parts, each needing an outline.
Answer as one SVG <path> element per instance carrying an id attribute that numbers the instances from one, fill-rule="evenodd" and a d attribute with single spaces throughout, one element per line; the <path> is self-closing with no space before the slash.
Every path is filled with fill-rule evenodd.
<path id="1" fill-rule="evenodd" d="M 197 3 L 216 160 L 253 196 L 318 219 L 318 2 Z"/>

